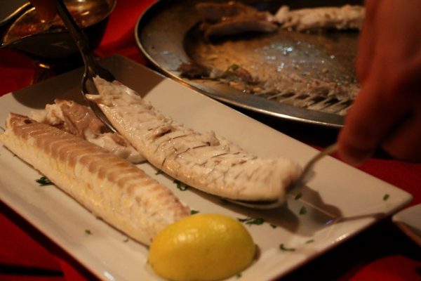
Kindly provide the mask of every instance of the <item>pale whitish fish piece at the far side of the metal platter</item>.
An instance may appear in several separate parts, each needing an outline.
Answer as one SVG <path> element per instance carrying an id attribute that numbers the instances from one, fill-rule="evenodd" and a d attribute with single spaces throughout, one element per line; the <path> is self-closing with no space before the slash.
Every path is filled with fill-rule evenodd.
<path id="1" fill-rule="evenodd" d="M 288 6 L 281 6 L 274 18 L 281 24 L 281 27 L 298 31 L 361 30 L 364 15 L 365 8 L 363 6 L 302 8 L 292 11 Z"/>

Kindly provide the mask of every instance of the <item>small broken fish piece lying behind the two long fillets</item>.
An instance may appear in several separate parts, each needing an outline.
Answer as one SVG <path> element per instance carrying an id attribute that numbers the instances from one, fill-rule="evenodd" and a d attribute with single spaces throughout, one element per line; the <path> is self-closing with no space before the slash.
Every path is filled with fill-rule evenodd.
<path id="1" fill-rule="evenodd" d="M 109 131 L 91 108 L 73 100 L 55 99 L 54 104 L 46 105 L 43 112 L 34 112 L 32 118 L 84 138 L 133 164 L 145 161 L 145 157 L 119 133 Z"/>

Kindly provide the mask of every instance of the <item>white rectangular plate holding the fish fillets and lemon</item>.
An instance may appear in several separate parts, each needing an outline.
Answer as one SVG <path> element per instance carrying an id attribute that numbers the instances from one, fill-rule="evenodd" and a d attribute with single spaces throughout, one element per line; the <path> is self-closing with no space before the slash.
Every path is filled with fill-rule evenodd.
<path id="1" fill-rule="evenodd" d="M 102 63 L 123 84 L 185 126 L 201 132 L 215 131 L 260 157 L 288 157 L 305 164 L 316 154 L 313 148 L 127 58 L 114 56 Z M 80 80 L 81 70 L 75 70 L 1 97 L 1 126 L 8 112 L 30 115 L 54 98 L 81 100 Z M 146 247 L 133 240 L 127 242 L 123 233 L 95 218 L 55 186 L 39 186 L 34 180 L 40 174 L 3 146 L 0 165 L 0 199 L 100 279 L 160 280 L 147 266 Z M 394 213 L 412 198 L 332 157 L 321 160 L 307 187 L 288 195 L 285 207 L 271 211 L 227 204 L 192 188 L 178 190 L 171 178 L 156 175 L 154 167 L 139 166 L 201 213 L 265 219 L 260 226 L 246 226 L 260 247 L 260 256 L 241 274 L 241 280 L 271 280 L 285 275 Z M 298 192 L 302 197 L 297 200 Z M 388 200 L 384 200 L 386 194 Z M 303 207 L 307 214 L 300 214 Z M 86 229 L 92 234 L 87 235 Z M 295 251 L 282 251 L 280 244 Z"/>

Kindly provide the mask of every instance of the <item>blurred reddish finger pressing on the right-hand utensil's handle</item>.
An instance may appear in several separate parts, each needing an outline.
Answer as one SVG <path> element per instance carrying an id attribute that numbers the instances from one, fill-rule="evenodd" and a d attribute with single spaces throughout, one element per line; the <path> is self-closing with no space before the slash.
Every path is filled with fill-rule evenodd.
<path id="1" fill-rule="evenodd" d="M 357 165 L 370 157 L 380 146 L 384 136 L 408 112 L 405 97 L 385 89 L 379 68 L 375 61 L 373 71 L 362 85 L 361 93 L 354 101 L 345 118 L 345 125 L 338 137 L 339 155 L 349 164 Z M 373 77 L 371 77 L 373 75 Z"/>

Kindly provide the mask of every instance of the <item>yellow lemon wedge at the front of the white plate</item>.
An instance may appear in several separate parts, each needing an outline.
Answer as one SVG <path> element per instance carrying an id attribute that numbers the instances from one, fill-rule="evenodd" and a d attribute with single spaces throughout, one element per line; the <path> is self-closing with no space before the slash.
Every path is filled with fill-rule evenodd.
<path id="1" fill-rule="evenodd" d="M 154 237 L 148 262 L 169 280 L 222 280 L 247 268 L 255 249 L 250 233 L 234 218 L 195 214 Z"/>

